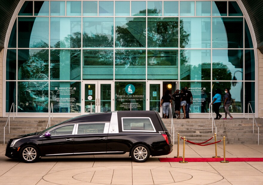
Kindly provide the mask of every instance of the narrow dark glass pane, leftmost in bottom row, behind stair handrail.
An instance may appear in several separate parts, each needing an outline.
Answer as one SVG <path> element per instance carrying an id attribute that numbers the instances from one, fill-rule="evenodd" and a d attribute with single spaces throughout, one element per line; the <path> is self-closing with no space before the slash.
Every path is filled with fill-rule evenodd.
<path id="1" fill-rule="evenodd" d="M 5 91 L 5 112 L 13 112 L 13 107 L 15 106 L 16 112 L 16 82 L 6 82 L 6 91 Z M 12 103 L 15 105 L 12 107 Z M 10 110 L 11 109 L 11 110 Z"/>

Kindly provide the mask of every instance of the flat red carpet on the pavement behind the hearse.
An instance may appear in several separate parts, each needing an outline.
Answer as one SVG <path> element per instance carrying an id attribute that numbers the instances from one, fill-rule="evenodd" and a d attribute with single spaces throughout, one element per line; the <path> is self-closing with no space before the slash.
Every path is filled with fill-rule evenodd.
<path id="1" fill-rule="evenodd" d="M 183 158 L 159 158 L 160 162 L 179 162 L 183 161 Z M 184 161 L 188 162 L 220 162 L 224 161 L 224 158 L 184 158 Z M 229 162 L 252 162 L 263 161 L 263 158 L 226 158 Z"/>

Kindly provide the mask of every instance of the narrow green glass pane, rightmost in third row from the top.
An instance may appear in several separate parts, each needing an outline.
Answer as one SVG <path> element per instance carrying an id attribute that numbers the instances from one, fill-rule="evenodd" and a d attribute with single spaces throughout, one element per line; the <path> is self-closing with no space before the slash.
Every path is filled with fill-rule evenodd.
<path id="1" fill-rule="evenodd" d="M 254 50 L 245 50 L 245 80 L 255 80 Z"/>

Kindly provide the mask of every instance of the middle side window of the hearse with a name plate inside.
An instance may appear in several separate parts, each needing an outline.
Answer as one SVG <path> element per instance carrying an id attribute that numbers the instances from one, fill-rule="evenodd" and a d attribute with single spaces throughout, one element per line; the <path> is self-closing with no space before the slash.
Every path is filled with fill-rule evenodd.
<path id="1" fill-rule="evenodd" d="M 105 123 L 85 123 L 79 124 L 78 134 L 103 133 Z"/>

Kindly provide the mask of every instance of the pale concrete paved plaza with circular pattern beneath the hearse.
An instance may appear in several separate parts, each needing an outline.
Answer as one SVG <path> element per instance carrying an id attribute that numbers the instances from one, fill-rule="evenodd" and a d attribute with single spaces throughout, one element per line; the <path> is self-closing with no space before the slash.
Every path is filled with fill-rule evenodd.
<path id="1" fill-rule="evenodd" d="M 180 156 L 183 146 L 180 144 Z M 150 157 L 136 163 L 124 155 L 43 158 L 26 164 L 4 156 L 0 145 L 0 185 L 259 185 L 263 184 L 263 162 L 160 162 L 159 157 L 177 156 L 177 145 L 167 156 Z M 217 145 L 223 158 L 223 144 Z M 215 156 L 215 146 L 187 144 L 186 158 Z M 263 158 L 263 145 L 226 145 L 226 157 Z M 223 160 L 223 159 L 222 159 Z"/>

